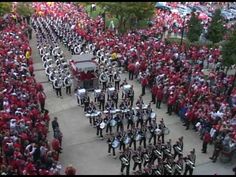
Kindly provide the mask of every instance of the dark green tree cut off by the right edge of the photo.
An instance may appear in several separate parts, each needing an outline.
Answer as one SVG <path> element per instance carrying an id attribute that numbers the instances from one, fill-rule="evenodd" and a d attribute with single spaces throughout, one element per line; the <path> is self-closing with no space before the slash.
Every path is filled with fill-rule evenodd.
<path id="1" fill-rule="evenodd" d="M 223 65 L 229 67 L 236 64 L 236 29 L 222 46 Z"/>

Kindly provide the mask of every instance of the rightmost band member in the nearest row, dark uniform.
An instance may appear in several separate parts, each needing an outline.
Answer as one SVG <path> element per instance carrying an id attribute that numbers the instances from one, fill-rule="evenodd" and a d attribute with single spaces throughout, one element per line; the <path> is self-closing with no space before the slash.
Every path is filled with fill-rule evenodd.
<path id="1" fill-rule="evenodd" d="M 193 175 L 193 169 L 195 168 L 195 161 L 196 161 L 196 155 L 195 155 L 195 149 L 193 149 L 190 154 L 184 158 L 186 164 L 185 164 L 185 171 L 184 175 Z"/>

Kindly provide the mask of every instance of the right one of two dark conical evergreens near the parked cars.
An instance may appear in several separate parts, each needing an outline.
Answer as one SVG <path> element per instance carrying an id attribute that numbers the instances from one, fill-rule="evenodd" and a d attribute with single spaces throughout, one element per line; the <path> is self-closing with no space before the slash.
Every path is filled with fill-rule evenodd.
<path id="1" fill-rule="evenodd" d="M 224 37 L 223 19 L 221 16 L 221 10 L 217 9 L 213 14 L 211 24 L 208 28 L 207 39 L 213 43 L 217 43 L 223 40 Z"/>

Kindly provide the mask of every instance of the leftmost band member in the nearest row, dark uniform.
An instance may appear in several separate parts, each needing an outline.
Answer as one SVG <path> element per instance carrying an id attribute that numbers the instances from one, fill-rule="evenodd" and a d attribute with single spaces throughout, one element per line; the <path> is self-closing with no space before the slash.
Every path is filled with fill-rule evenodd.
<path id="1" fill-rule="evenodd" d="M 120 161 L 121 161 L 121 174 L 123 175 L 123 171 L 126 168 L 126 175 L 129 175 L 130 170 L 130 160 L 131 160 L 131 152 L 128 149 L 125 150 L 123 154 L 120 155 Z"/>

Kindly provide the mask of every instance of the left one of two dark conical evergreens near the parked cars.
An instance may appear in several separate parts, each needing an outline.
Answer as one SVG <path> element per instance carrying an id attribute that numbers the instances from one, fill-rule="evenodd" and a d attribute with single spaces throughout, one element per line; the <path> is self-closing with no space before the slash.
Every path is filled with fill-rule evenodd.
<path id="1" fill-rule="evenodd" d="M 202 24 L 194 12 L 191 14 L 191 18 L 188 23 L 188 29 L 187 38 L 189 41 L 198 41 L 202 33 Z"/>

